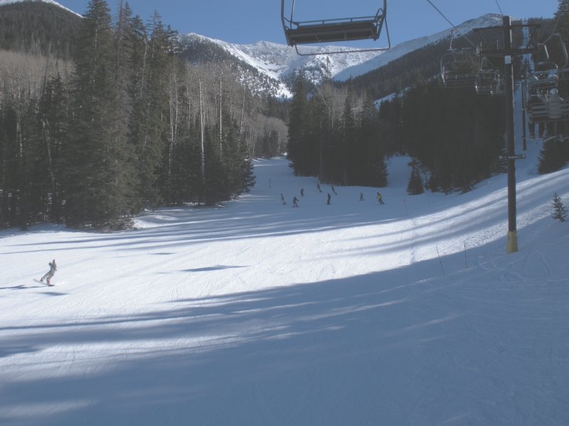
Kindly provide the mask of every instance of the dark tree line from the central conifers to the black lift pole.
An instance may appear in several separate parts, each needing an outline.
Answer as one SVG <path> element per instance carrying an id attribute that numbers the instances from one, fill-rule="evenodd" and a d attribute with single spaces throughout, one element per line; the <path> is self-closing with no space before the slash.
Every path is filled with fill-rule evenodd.
<path id="1" fill-rule="evenodd" d="M 504 103 L 474 89 L 422 82 L 377 108 L 349 86 L 310 89 L 294 81 L 288 155 L 297 175 L 321 182 L 383 187 L 391 155 L 410 155 L 409 191 L 468 191 L 503 169 Z"/>

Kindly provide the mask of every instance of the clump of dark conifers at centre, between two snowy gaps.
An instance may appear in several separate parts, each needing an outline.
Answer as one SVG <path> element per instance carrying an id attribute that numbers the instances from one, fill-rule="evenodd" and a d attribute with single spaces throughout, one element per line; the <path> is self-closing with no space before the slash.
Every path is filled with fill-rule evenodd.
<path id="1" fill-rule="evenodd" d="M 387 185 L 380 116 L 373 102 L 356 107 L 350 92 L 341 116 L 334 116 L 336 96 L 329 82 L 312 92 L 302 74 L 294 82 L 289 109 L 289 160 L 294 173 L 343 185 Z"/>

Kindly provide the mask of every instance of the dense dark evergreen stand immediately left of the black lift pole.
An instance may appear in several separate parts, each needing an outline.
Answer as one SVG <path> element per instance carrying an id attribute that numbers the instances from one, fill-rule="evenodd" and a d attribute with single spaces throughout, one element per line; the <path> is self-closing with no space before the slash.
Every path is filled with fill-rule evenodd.
<path id="1" fill-rule="evenodd" d="M 501 99 L 429 84 L 408 92 L 401 115 L 405 151 L 430 171 L 431 190 L 466 192 L 498 170 Z"/>

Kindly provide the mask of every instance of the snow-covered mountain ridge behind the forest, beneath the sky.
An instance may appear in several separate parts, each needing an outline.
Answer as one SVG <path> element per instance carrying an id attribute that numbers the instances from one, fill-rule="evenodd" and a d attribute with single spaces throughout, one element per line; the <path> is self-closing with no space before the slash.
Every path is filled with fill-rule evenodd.
<path id="1" fill-rule="evenodd" d="M 501 16 L 497 14 L 487 14 L 479 18 L 472 19 L 457 26 L 458 32 L 467 34 L 473 28 L 499 26 Z M 424 48 L 426 45 L 437 41 L 450 38 L 452 31 L 447 29 L 432 35 L 425 35 L 421 38 L 409 40 L 399 45 L 393 46 L 387 51 L 375 52 L 356 52 L 333 55 L 326 53 L 337 50 L 349 50 L 349 48 L 339 48 L 338 46 L 300 46 L 302 53 L 319 53 L 319 55 L 302 56 L 297 55 L 296 50 L 287 45 L 260 41 L 250 45 L 239 45 L 228 43 L 222 40 L 208 38 L 194 33 L 181 35 L 181 43 L 189 48 L 196 43 L 215 45 L 224 50 L 228 55 L 240 62 L 252 67 L 261 75 L 277 84 L 278 92 L 282 96 L 287 96 L 287 82 L 294 70 L 303 69 L 312 82 L 318 84 L 324 77 L 334 80 L 345 81 L 350 77 L 366 74 L 376 70 L 393 60 L 401 58 L 403 55 L 412 53 L 414 50 Z M 456 36 L 456 35 L 455 35 Z"/>

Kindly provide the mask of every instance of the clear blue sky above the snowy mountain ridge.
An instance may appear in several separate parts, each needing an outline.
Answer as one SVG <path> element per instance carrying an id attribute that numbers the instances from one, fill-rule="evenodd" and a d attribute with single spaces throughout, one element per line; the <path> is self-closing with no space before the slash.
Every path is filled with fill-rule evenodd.
<path id="1" fill-rule="evenodd" d="M 56 0 L 77 13 L 85 12 L 88 0 Z M 287 14 L 292 0 L 287 2 Z M 431 0 L 458 25 L 485 13 L 500 13 L 516 18 L 551 18 L 558 0 Z M 113 10 L 119 0 L 107 0 Z M 134 13 L 145 21 L 154 10 L 179 33 L 198 33 L 231 43 L 249 44 L 259 40 L 285 44 L 280 22 L 279 0 L 130 0 Z M 296 0 L 295 17 L 300 20 L 368 16 L 383 6 L 383 0 Z M 450 28 L 427 0 L 388 0 L 387 21 L 392 44 L 430 35 Z M 371 43 L 371 42 L 370 42 Z M 385 43 L 380 40 L 371 47 Z M 368 46 L 367 43 L 357 45 Z M 356 47 L 356 46 L 354 46 Z"/>

